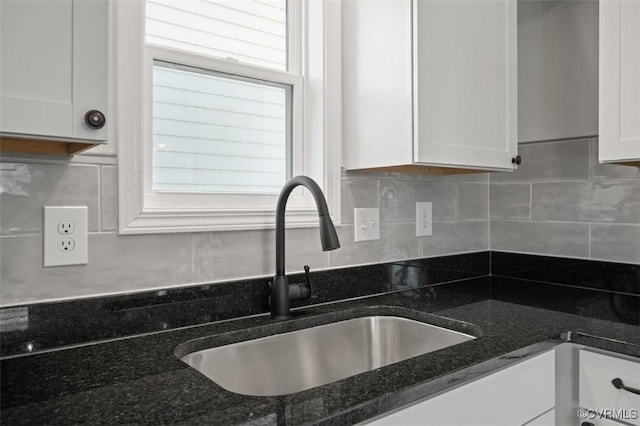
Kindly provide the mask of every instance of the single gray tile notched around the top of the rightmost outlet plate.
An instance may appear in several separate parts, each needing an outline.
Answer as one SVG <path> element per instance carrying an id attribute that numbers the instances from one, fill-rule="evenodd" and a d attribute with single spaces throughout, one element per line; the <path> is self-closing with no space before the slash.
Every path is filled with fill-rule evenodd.
<path id="1" fill-rule="evenodd" d="M 433 203 L 433 219 L 456 219 L 458 184 L 444 181 L 380 180 L 380 221 L 415 222 L 416 202 Z"/>

